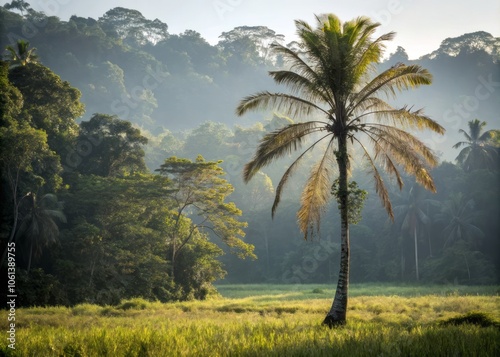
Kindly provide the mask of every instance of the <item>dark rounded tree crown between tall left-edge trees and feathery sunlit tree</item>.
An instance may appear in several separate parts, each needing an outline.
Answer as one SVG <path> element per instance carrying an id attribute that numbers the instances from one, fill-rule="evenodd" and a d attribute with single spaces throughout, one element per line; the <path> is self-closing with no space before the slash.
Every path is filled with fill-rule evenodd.
<path id="1" fill-rule="evenodd" d="M 80 124 L 78 143 L 82 153 L 77 168 L 81 173 L 98 176 L 145 171 L 143 145 L 147 142 L 129 121 L 94 114 L 89 121 Z"/>

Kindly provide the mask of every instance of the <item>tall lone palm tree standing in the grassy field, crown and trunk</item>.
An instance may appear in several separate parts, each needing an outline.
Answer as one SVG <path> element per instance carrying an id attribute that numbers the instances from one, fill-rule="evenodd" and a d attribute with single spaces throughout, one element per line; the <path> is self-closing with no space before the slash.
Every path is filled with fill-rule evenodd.
<path id="1" fill-rule="evenodd" d="M 276 187 L 272 207 L 274 214 L 288 179 L 296 171 L 305 154 L 320 141 L 325 142 L 319 161 L 312 168 L 302 192 L 301 207 L 297 212 L 299 226 L 304 237 L 319 232 L 323 208 L 331 197 L 333 168 L 338 167 L 336 199 L 341 218 L 340 272 L 332 307 L 324 324 L 333 327 L 345 324 L 349 284 L 349 149 L 359 149 L 375 179 L 376 191 L 390 217 L 393 212 L 389 195 L 379 172 L 379 166 L 395 177 L 403 186 L 400 170 L 415 175 L 418 183 L 435 191 L 427 166 L 435 165 L 435 155 L 420 140 L 404 129 L 430 129 L 443 133 L 444 129 L 425 116 L 421 110 L 394 108 L 377 94 L 395 95 L 396 91 L 430 84 L 431 74 L 417 65 L 398 63 L 392 68 L 373 76 L 380 62 L 384 42 L 394 33 L 384 34 L 375 40 L 373 34 L 380 26 L 370 19 L 359 17 L 342 23 L 335 15 L 317 16 L 317 28 L 297 20 L 300 51 L 279 44 L 273 45 L 289 69 L 270 72 L 278 84 L 284 84 L 290 93 L 259 92 L 240 102 L 237 114 L 250 110 L 274 107 L 286 115 L 303 121 L 290 124 L 266 135 L 253 159 L 244 168 L 248 182 L 262 167 L 273 160 L 297 150 L 304 138 L 314 137 L 312 143 L 285 171 Z M 320 119 L 313 119 L 319 114 Z M 366 145 L 374 149 L 369 154 Z M 400 165 L 400 166 L 398 166 Z"/>

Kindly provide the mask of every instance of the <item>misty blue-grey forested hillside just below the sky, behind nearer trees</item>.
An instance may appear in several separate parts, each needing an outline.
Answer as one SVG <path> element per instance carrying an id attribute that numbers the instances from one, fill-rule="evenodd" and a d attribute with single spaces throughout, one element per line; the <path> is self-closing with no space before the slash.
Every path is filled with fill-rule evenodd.
<path id="1" fill-rule="evenodd" d="M 41 25 L 27 33 L 33 24 Z M 44 65 L 80 89 L 83 120 L 93 113 L 115 114 L 154 135 L 188 131 L 206 121 L 251 125 L 272 114 L 237 118 L 238 101 L 260 90 L 283 90 L 267 72 L 283 65 L 270 54 L 270 44 L 285 39 L 265 26 L 237 27 L 211 45 L 195 31 L 170 34 L 167 24 L 121 7 L 98 19 L 75 15 L 61 21 L 0 6 L 0 46 L 23 36 Z M 447 38 L 415 61 L 400 47 L 381 67 L 416 63 L 433 74 L 431 86 L 403 93 L 396 104 L 423 107 L 444 125 L 444 139 L 424 139 L 453 160 L 451 146 L 468 120 L 500 126 L 499 59 L 500 39 L 479 31 Z"/>

